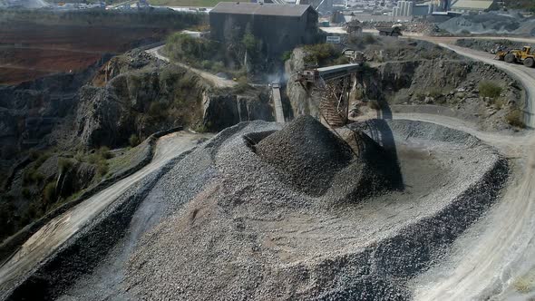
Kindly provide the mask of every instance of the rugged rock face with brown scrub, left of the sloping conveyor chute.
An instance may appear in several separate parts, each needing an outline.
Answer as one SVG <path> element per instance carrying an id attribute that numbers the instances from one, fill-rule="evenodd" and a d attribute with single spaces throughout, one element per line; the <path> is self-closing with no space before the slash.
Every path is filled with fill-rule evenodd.
<path id="1" fill-rule="evenodd" d="M 147 137 L 178 125 L 221 131 L 240 121 L 273 121 L 265 92 L 217 92 L 189 73 L 170 73 L 174 80 L 166 80 L 167 73 L 125 73 L 105 87 L 84 87 L 78 139 L 85 145 L 121 145 L 132 134 Z"/>

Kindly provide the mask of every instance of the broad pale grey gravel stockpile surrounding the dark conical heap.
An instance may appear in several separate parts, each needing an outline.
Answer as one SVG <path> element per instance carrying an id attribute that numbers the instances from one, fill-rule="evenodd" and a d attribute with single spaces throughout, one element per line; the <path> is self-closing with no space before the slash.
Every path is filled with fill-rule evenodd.
<path id="1" fill-rule="evenodd" d="M 272 133 L 279 124 L 244 122 L 220 132 L 141 188 L 138 209 L 122 217 L 130 226 L 92 273 L 69 272 L 76 248 L 65 254 L 55 273 L 73 284 L 54 290 L 62 300 L 410 298 L 408 279 L 481 216 L 507 167 L 477 139 L 438 125 L 353 127 L 373 141 L 341 132 L 356 155 L 318 196 L 295 189 L 258 154 L 256 146 L 282 136 Z M 387 166 L 396 168 L 385 173 Z M 81 263 L 87 252 L 79 252 Z"/>

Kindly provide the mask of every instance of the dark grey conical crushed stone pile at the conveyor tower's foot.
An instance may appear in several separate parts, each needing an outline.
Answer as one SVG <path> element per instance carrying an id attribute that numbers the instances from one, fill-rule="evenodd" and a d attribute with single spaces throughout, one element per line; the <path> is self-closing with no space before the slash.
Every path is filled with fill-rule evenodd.
<path id="1" fill-rule="evenodd" d="M 301 116 L 256 146 L 258 156 L 297 189 L 321 195 L 353 159 L 349 145 L 309 115 Z"/>

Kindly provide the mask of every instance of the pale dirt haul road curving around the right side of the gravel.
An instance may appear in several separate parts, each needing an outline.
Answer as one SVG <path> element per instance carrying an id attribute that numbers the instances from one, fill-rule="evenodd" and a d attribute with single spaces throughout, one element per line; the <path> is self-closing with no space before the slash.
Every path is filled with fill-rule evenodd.
<path id="1" fill-rule="evenodd" d="M 535 127 L 535 69 L 492 59 L 490 53 L 441 44 L 468 58 L 511 73 L 527 92 L 526 123 Z M 398 117 L 426 119 L 422 114 Z M 433 118 L 431 118 L 433 119 Z M 447 260 L 416 279 L 416 300 L 527 299 L 535 296 L 535 133 L 524 137 L 483 133 L 442 116 L 435 122 L 464 128 L 500 150 L 520 156 L 519 174 L 501 202 L 455 243 Z"/>

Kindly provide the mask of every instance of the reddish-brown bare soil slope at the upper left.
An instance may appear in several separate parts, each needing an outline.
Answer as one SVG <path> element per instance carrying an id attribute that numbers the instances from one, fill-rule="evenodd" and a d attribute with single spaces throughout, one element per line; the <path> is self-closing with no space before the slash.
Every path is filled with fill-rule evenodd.
<path id="1" fill-rule="evenodd" d="M 0 84 L 21 83 L 48 73 L 70 72 L 97 62 L 103 53 L 122 53 L 159 41 L 160 28 L 30 23 L 0 26 Z"/>

